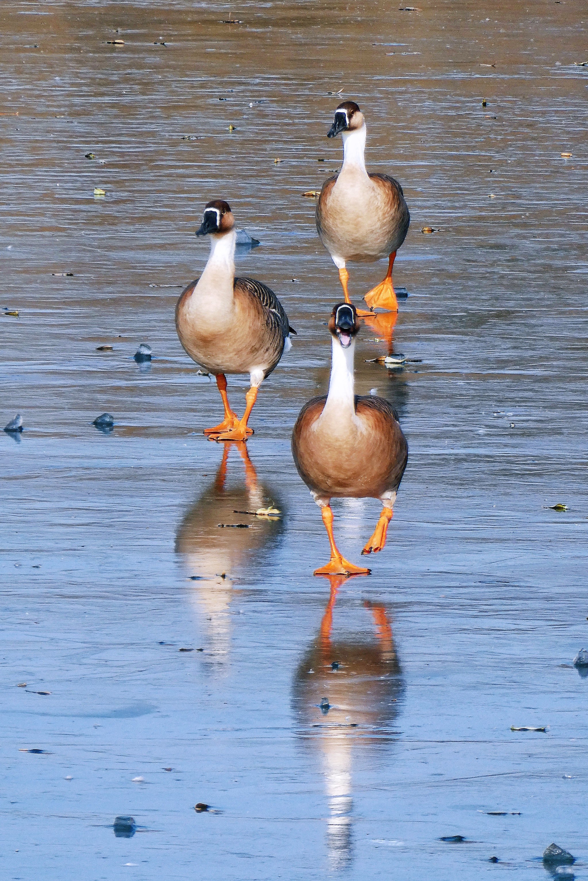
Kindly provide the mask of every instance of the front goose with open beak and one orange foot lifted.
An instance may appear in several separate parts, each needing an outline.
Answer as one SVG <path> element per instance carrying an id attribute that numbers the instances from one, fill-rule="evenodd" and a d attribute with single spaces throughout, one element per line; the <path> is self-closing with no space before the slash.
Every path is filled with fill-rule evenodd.
<path id="1" fill-rule="evenodd" d="M 302 407 L 292 433 L 294 464 L 321 508 L 331 559 L 315 575 L 369 574 L 348 562 L 335 544 L 331 498 L 379 499 L 382 513 L 362 554 L 382 551 L 408 447 L 398 417 L 383 397 L 354 395 L 354 346 L 359 330 L 353 304 L 333 307 L 329 394 Z"/>

